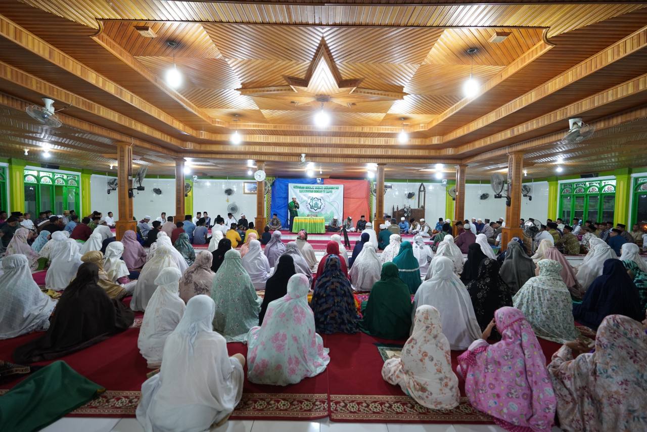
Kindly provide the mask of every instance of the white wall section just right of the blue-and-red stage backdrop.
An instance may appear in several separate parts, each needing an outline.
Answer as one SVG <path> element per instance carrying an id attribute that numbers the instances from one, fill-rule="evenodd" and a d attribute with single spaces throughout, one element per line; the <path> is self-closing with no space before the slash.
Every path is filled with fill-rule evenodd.
<path id="1" fill-rule="evenodd" d="M 403 208 L 404 206 L 411 206 L 411 208 L 418 207 L 418 188 L 420 182 L 389 182 L 388 180 L 385 183 L 392 184 L 393 189 L 389 189 L 384 194 L 384 212 L 391 213 L 391 208 L 393 206 L 399 206 Z M 427 222 L 433 222 L 438 220 L 439 217 L 445 216 L 445 193 L 446 188 L 444 188 L 440 183 L 425 183 L 424 188 L 426 189 L 426 204 L 424 208 L 424 219 Z M 407 192 L 415 193 L 413 199 L 407 199 Z"/>

